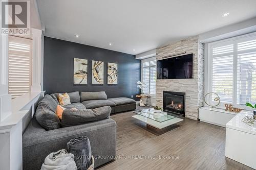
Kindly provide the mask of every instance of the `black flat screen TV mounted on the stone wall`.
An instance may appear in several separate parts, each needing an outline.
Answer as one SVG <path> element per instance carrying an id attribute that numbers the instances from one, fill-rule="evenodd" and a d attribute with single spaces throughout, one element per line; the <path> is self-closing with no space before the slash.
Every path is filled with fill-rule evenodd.
<path id="1" fill-rule="evenodd" d="M 157 79 L 192 79 L 193 54 L 157 61 Z"/>

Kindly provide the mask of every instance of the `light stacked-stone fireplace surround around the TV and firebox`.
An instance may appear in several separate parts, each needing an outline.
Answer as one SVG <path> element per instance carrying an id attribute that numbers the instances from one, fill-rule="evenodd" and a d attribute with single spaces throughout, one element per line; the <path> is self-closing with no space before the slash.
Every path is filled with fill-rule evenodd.
<path id="1" fill-rule="evenodd" d="M 203 105 L 203 67 L 204 45 L 198 41 L 198 36 L 157 48 L 156 59 L 164 56 L 186 52 L 193 53 L 193 79 L 159 79 L 156 81 L 156 105 L 163 106 L 163 91 L 186 93 L 185 117 L 198 119 L 198 108 Z M 175 56 L 177 57 L 177 56 Z"/>

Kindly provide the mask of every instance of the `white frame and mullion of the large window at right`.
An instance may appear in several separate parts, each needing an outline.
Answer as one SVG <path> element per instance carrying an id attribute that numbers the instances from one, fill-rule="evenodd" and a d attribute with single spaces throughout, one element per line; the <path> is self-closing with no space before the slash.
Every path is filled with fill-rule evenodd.
<path id="1" fill-rule="evenodd" d="M 215 41 L 208 43 L 208 62 L 207 62 L 207 82 L 206 82 L 206 92 L 212 92 L 212 47 L 217 47 L 218 45 L 222 46 L 225 44 L 229 44 L 230 42 L 233 42 L 234 47 L 233 47 L 233 95 L 232 95 L 232 105 L 234 107 L 239 107 L 248 110 L 249 108 L 245 105 L 239 105 L 237 104 L 237 77 L 238 77 L 238 54 L 237 54 L 237 44 L 241 41 L 244 41 L 244 39 L 247 39 L 248 41 L 250 39 L 255 39 L 256 38 L 256 32 L 237 36 L 237 37 L 232 37 L 220 41 Z M 217 108 L 225 108 L 224 106 L 225 103 L 220 103 L 220 105 Z"/>

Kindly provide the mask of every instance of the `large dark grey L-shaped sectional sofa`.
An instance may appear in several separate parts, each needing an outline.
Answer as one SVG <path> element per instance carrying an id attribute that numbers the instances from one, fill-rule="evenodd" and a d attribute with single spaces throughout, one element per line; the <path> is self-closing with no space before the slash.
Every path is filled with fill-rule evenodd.
<path id="1" fill-rule="evenodd" d="M 109 112 L 118 113 L 136 109 L 136 102 L 129 98 L 108 99 L 105 92 L 71 92 L 71 104 L 63 106 L 67 109 L 95 109 L 102 106 L 110 106 Z M 53 110 L 59 104 L 58 93 L 46 95 L 39 106 L 44 103 L 47 114 L 54 115 Z M 51 96 L 51 97 L 50 97 Z M 88 122 L 70 127 L 55 127 L 46 130 L 37 121 L 37 114 L 41 114 L 39 106 L 35 116 L 31 119 L 23 134 L 23 169 L 40 169 L 45 157 L 51 152 L 67 149 L 67 142 L 75 137 L 88 136 L 90 139 L 92 154 L 96 157 L 94 167 L 115 159 L 116 155 L 116 122 L 111 118 L 105 118 L 94 122 Z M 111 111 L 110 111 L 111 110 Z M 52 125 L 52 123 L 50 123 Z M 54 125 L 53 125 L 54 126 Z M 60 123 L 61 126 L 61 123 Z"/>

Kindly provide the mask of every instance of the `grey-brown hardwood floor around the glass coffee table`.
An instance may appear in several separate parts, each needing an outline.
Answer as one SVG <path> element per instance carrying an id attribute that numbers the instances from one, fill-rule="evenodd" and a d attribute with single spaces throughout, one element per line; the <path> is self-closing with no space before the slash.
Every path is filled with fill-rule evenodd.
<path id="1" fill-rule="evenodd" d="M 225 128 L 185 118 L 155 131 L 132 115 L 135 113 L 111 116 L 117 123 L 117 158 L 97 169 L 252 169 L 225 158 Z"/>

